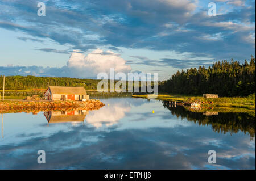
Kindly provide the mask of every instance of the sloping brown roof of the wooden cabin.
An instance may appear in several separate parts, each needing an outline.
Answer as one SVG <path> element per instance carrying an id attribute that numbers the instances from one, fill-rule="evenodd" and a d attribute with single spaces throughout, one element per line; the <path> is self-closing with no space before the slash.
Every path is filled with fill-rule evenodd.
<path id="1" fill-rule="evenodd" d="M 61 86 L 49 86 L 52 94 L 77 94 L 87 95 L 84 87 L 61 87 Z"/>

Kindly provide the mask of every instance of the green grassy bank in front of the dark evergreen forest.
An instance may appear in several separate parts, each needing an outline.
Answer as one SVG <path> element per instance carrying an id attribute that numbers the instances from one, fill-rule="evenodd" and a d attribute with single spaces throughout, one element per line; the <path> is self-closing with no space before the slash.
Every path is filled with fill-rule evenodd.
<path id="1" fill-rule="evenodd" d="M 152 96 L 152 95 L 149 95 Z M 148 98 L 148 95 L 133 95 L 133 98 Z M 237 107 L 255 110 L 255 93 L 247 97 L 204 98 L 177 94 L 159 94 L 154 99 L 193 103 L 199 101 L 205 107 Z"/>

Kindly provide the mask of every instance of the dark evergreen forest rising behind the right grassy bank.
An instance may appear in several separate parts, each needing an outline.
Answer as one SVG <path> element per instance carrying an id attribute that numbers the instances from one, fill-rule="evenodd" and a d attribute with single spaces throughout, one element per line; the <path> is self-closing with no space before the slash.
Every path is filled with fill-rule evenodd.
<path id="1" fill-rule="evenodd" d="M 255 58 L 248 63 L 218 61 L 209 68 L 199 66 L 177 71 L 167 81 L 159 82 L 159 91 L 171 94 L 247 96 L 255 92 Z"/>

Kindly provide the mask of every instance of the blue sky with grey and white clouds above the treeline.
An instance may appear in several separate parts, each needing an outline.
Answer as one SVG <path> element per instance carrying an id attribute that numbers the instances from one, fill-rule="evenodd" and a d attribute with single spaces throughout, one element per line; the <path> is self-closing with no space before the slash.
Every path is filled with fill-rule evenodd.
<path id="1" fill-rule="evenodd" d="M 1 0 L 0 9 L 1 75 L 96 78 L 114 68 L 164 80 L 255 56 L 255 1 Z"/>

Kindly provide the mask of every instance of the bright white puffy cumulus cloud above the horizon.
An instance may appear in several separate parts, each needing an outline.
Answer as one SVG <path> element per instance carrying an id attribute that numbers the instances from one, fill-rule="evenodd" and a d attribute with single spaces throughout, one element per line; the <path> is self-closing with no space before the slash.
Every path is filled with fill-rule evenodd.
<path id="1" fill-rule="evenodd" d="M 79 52 L 73 52 L 68 60 L 68 68 L 82 69 L 89 71 L 93 75 L 100 72 L 109 74 L 109 69 L 114 68 L 115 72 L 127 73 L 131 70 L 130 65 L 126 65 L 126 61 L 111 51 L 103 52 L 101 49 L 96 49 L 85 56 Z"/>

